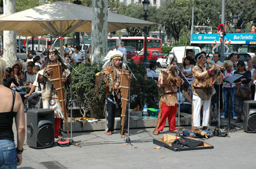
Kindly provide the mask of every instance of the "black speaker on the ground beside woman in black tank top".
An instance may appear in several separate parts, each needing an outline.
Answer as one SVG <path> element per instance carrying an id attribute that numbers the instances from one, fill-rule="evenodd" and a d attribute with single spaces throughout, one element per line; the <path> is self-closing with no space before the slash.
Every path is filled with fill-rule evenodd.
<path id="1" fill-rule="evenodd" d="M 54 143 L 54 110 L 32 109 L 27 111 L 27 144 L 41 149 Z"/>

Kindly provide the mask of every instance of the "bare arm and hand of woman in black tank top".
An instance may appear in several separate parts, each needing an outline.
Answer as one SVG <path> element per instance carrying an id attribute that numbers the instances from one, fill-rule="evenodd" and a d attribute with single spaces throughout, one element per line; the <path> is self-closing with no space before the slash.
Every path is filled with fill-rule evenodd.
<path id="1" fill-rule="evenodd" d="M 25 140 L 25 113 L 24 113 L 24 107 L 22 103 L 22 98 L 20 95 L 16 92 L 16 99 L 14 104 L 14 110 L 17 109 L 17 114 L 15 116 L 15 124 L 16 124 L 16 130 L 17 130 L 17 149 L 22 150 L 23 144 Z M 22 154 L 16 154 L 17 155 L 17 165 L 20 165 L 22 163 Z"/>

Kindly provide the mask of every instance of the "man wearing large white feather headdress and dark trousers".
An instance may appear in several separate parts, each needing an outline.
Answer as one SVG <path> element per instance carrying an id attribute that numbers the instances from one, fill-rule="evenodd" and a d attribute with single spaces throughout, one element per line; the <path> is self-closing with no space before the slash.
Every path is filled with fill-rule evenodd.
<path id="1" fill-rule="evenodd" d="M 105 75 L 106 88 L 105 92 L 107 95 L 106 100 L 106 116 L 108 129 L 106 134 L 112 135 L 114 131 L 115 123 L 115 110 L 116 105 L 121 111 L 121 92 L 120 92 L 120 83 L 121 83 L 121 70 L 124 69 L 125 65 L 121 65 L 121 59 L 123 58 L 123 53 L 116 49 L 110 50 L 106 57 L 103 59 L 104 65 L 102 66 L 103 73 Z M 127 114 L 127 111 L 126 111 Z M 127 135 L 127 124 L 128 118 L 126 116 L 124 122 L 123 132 Z M 120 131 L 121 132 L 121 131 Z"/>

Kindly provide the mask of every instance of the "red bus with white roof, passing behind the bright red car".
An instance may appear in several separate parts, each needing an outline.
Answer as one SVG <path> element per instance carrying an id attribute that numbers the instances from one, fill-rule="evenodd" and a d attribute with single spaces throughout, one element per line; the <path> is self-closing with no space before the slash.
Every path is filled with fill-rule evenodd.
<path id="1" fill-rule="evenodd" d="M 138 52 L 144 49 L 144 37 L 121 37 L 124 46 L 134 47 Z M 108 38 L 108 48 L 111 46 L 120 46 L 119 37 Z M 147 38 L 147 50 L 161 51 L 162 40 L 157 38 Z"/>

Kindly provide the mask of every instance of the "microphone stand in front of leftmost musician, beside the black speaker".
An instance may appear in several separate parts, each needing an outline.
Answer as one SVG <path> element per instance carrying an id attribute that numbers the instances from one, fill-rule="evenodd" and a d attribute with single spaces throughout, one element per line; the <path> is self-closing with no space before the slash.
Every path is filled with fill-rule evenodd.
<path id="1" fill-rule="evenodd" d="M 62 57 L 61 57 L 61 55 L 59 54 L 59 52 L 58 51 L 56 51 L 55 52 L 55 54 L 57 54 L 58 55 L 58 57 L 59 58 L 61 58 L 64 62 L 66 62 L 72 69 L 74 69 L 79 75 L 81 75 L 81 73 L 79 73 L 73 66 L 71 66 L 67 61 L 65 61 L 65 59 L 63 59 Z M 71 104 L 70 104 L 70 132 L 71 132 L 71 138 L 69 139 L 69 143 L 70 143 L 70 145 L 73 145 L 73 146 L 77 146 L 77 147 L 80 147 L 81 148 L 81 146 L 78 146 L 76 143 L 79 143 L 79 142 L 81 142 L 81 140 L 79 140 L 79 141 L 77 141 L 77 142 L 74 142 L 74 140 L 73 140 L 73 132 L 72 132 L 72 124 L 73 124 L 73 121 L 72 121 L 72 118 L 73 118 L 73 92 L 72 92 L 72 69 L 70 69 L 70 99 L 71 99 Z"/>

